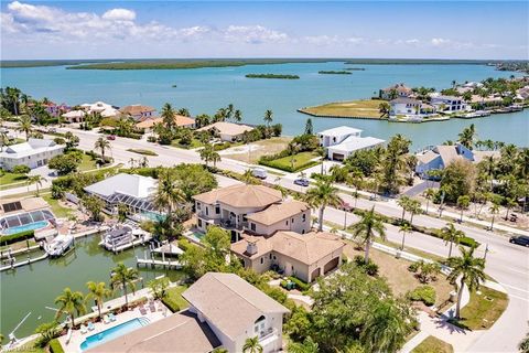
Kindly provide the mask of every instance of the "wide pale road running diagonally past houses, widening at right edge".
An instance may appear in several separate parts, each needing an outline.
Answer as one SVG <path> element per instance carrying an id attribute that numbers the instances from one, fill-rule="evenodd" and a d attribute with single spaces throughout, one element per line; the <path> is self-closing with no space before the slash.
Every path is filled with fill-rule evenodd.
<path id="1" fill-rule="evenodd" d="M 84 150 L 93 150 L 94 142 L 100 135 L 93 131 L 73 131 L 80 139 L 79 148 Z M 199 156 L 193 150 L 182 150 L 172 147 L 158 146 L 141 140 L 132 140 L 125 138 L 116 138 L 111 141 L 111 150 L 108 152 L 116 161 L 128 163 L 130 158 L 139 159 L 141 156 L 129 152 L 130 148 L 145 148 L 155 151 L 158 157 L 149 157 L 150 165 L 174 165 L 177 163 L 201 163 Z M 248 165 L 230 159 L 223 159 L 217 167 L 235 172 L 244 172 Z M 306 188 L 298 186 L 292 183 L 296 174 L 284 175 L 279 182 L 281 185 L 304 192 Z M 273 183 L 276 175 L 269 175 L 268 182 Z M 355 200 L 350 195 L 342 194 L 343 199 L 354 205 Z M 369 210 L 375 206 L 376 211 L 393 217 L 401 216 L 401 210 L 395 204 L 395 201 L 373 202 L 365 199 L 357 200 L 357 206 Z M 337 224 L 344 223 L 344 213 L 342 211 L 328 208 L 325 213 L 326 221 Z M 347 215 L 348 222 L 356 221 L 353 214 Z M 446 221 L 427 215 L 415 215 L 413 223 L 428 227 L 443 227 Z M 510 302 L 501 317 L 501 319 L 475 344 L 472 352 L 515 352 L 517 343 L 523 338 L 528 330 L 527 321 L 529 320 L 529 250 L 527 248 L 511 245 L 508 238 L 487 232 L 469 225 L 456 225 L 457 228 L 464 231 L 468 236 L 475 238 L 482 246 L 478 254 L 484 254 L 485 246 L 488 244 L 489 253 L 487 254 L 487 272 L 498 280 L 509 292 Z M 388 239 L 400 242 L 401 234 L 393 226 L 388 226 Z M 441 239 L 413 233 L 407 236 L 407 245 L 430 252 L 432 254 L 446 256 L 447 247 Z"/>

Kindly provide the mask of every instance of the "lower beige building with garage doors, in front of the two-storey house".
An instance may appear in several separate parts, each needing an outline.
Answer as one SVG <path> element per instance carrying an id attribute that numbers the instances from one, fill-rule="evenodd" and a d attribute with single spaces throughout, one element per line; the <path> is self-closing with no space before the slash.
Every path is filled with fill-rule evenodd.
<path id="1" fill-rule="evenodd" d="M 341 265 L 344 246 L 345 243 L 331 233 L 302 235 L 280 231 L 271 237 L 245 235 L 231 244 L 231 252 L 245 267 L 258 274 L 274 269 L 312 282 Z"/>

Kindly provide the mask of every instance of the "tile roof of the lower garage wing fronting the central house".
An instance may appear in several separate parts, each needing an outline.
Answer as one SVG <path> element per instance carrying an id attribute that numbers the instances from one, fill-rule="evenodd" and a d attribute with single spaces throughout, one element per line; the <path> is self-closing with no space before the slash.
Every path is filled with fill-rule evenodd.
<path id="1" fill-rule="evenodd" d="M 257 254 L 250 256 L 246 253 L 248 242 L 256 243 Z M 299 234 L 279 231 L 269 238 L 245 236 L 242 240 L 231 244 L 231 252 L 250 259 L 276 252 L 305 265 L 312 265 L 344 246 L 345 243 L 338 236 L 326 232 Z"/>

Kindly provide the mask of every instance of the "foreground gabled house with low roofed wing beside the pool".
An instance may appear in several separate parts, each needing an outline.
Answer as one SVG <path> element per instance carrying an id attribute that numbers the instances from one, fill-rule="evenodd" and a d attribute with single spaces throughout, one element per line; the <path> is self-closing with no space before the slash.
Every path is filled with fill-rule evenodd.
<path id="1" fill-rule="evenodd" d="M 289 310 L 234 274 L 207 272 L 182 293 L 190 308 L 148 324 L 90 352 L 242 352 L 258 338 L 263 353 L 282 349 Z"/>

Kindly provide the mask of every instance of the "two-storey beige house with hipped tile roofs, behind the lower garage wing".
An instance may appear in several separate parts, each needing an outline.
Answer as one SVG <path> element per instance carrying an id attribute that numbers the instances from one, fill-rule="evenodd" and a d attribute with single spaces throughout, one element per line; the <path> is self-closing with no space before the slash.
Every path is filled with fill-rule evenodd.
<path id="1" fill-rule="evenodd" d="M 282 201 L 281 192 L 263 185 L 233 185 L 193 196 L 197 228 L 219 225 L 237 242 L 242 232 L 271 235 L 277 231 L 306 233 L 311 210 L 299 201 Z"/>

